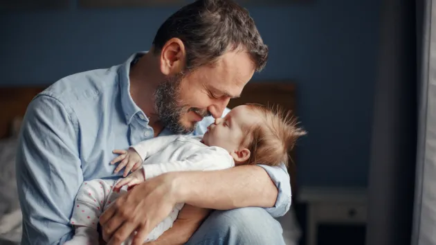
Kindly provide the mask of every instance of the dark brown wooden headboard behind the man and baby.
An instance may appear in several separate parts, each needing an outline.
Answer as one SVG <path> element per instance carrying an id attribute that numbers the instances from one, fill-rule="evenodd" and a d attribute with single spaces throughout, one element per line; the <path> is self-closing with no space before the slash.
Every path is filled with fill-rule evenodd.
<path id="1" fill-rule="evenodd" d="M 24 116 L 30 100 L 44 89 L 46 89 L 46 87 L 0 87 L 0 108 L 3 108 L 0 117 L 0 138 L 9 136 L 12 120 Z M 228 107 L 233 108 L 246 102 L 260 103 L 263 105 L 280 105 L 284 109 L 291 110 L 295 113 L 295 85 L 290 81 L 249 82 L 244 88 L 242 96 L 230 100 Z M 294 151 L 291 152 L 290 155 L 295 159 L 293 157 L 295 156 Z M 289 164 L 289 174 L 291 174 L 293 193 L 296 191 L 294 189 L 296 187 L 295 173 L 295 165 L 291 162 Z"/>

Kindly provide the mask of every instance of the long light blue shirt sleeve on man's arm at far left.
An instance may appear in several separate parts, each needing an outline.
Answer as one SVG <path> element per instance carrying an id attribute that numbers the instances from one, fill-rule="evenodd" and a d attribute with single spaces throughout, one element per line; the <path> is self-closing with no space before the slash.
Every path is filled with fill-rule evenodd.
<path id="1" fill-rule="evenodd" d="M 17 186 L 23 212 L 21 244 L 63 244 L 83 181 L 73 114 L 58 100 L 37 96 L 26 111 L 17 149 Z"/>

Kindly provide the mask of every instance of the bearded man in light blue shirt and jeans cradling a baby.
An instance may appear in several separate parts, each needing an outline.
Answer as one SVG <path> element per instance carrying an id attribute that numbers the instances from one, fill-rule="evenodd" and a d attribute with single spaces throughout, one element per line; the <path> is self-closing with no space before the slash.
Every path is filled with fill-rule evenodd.
<path id="1" fill-rule="evenodd" d="M 246 10 L 230 0 L 195 1 L 165 21 L 149 52 L 70 75 L 39 94 L 26 111 L 17 152 L 22 244 L 70 239 L 82 182 L 120 178 L 109 164 L 113 149 L 158 135 L 203 134 L 209 115 L 223 114 L 267 54 Z M 183 202 L 181 212 L 192 219 L 177 219 L 153 244 L 284 244 L 273 217 L 289 210 L 290 197 L 285 167 L 173 172 L 129 191 L 103 213 L 100 225 L 108 244 L 131 233 L 134 244 L 143 244 Z"/>

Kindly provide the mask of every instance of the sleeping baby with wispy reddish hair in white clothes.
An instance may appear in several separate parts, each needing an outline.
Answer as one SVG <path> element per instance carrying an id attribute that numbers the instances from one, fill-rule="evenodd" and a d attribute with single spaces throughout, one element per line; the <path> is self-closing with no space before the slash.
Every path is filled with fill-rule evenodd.
<path id="1" fill-rule="evenodd" d="M 287 165 L 288 152 L 305 131 L 289 114 L 261 105 L 241 105 L 224 118 L 217 118 L 202 136 L 159 136 L 145 140 L 120 154 L 111 164 L 115 172 L 125 168 L 124 179 L 94 179 L 82 183 L 75 199 L 71 224 L 75 235 L 66 244 L 98 244 L 98 219 L 113 201 L 130 188 L 165 172 L 223 170 L 235 165 L 262 163 Z M 127 189 L 127 190 L 126 190 Z M 147 236 L 154 241 L 172 227 L 183 203 Z M 123 244 L 131 244 L 129 237 Z"/>

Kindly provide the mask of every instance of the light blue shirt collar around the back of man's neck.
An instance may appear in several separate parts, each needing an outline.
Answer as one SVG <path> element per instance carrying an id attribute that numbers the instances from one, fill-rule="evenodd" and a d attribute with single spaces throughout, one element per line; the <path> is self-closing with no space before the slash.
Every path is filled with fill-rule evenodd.
<path id="1" fill-rule="evenodd" d="M 125 120 L 127 124 L 131 123 L 131 119 L 135 116 L 137 113 L 143 113 L 143 111 L 135 104 L 134 100 L 131 98 L 130 95 L 130 80 L 129 80 L 129 73 L 130 73 L 130 66 L 132 64 L 135 64 L 138 59 L 143 56 L 146 51 L 134 53 L 129 57 L 129 59 L 120 66 L 120 69 L 118 70 L 118 77 L 120 82 L 120 94 L 121 94 L 121 107 L 122 111 L 124 112 Z M 145 115 L 144 115 L 145 116 Z M 145 120 L 147 120 L 147 117 L 145 116 Z"/>

